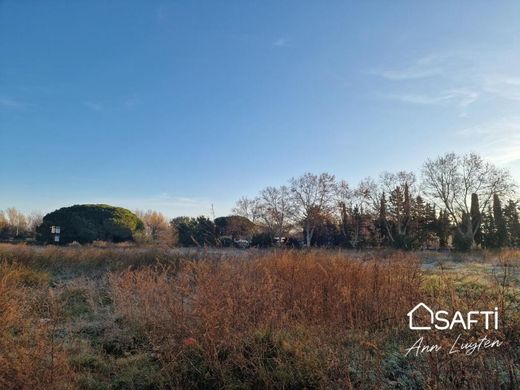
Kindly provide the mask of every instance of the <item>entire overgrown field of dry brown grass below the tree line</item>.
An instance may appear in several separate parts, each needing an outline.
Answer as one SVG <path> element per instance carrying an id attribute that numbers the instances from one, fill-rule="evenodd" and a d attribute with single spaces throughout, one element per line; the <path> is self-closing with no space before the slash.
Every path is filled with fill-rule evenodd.
<path id="1" fill-rule="evenodd" d="M 520 252 L 0 245 L 2 389 L 520 387 Z M 409 330 L 500 312 L 499 348 Z M 446 350 L 405 356 L 419 335 Z"/>

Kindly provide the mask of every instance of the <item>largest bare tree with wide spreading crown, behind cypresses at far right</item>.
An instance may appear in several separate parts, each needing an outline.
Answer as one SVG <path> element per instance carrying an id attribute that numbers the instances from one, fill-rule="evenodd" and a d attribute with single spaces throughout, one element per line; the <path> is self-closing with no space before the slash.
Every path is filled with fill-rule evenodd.
<path id="1" fill-rule="evenodd" d="M 472 194 L 478 197 L 478 211 L 482 213 L 493 194 L 505 195 L 513 186 L 507 170 L 498 169 L 473 153 L 464 156 L 448 153 L 435 160 L 428 159 L 422 174 L 426 195 L 446 209 L 458 235 L 472 246 L 480 227 L 478 221 L 472 221 Z"/>

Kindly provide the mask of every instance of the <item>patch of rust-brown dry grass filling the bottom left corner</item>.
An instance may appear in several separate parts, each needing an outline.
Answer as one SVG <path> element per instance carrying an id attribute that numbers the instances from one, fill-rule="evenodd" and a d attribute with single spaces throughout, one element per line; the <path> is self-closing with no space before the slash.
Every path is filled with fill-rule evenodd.
<path id="1" fill-rule="evenodd" d="M 70 389 L 75 375 L 55 334 L 45 275 L 0 263 L 0 388 Z"/>

